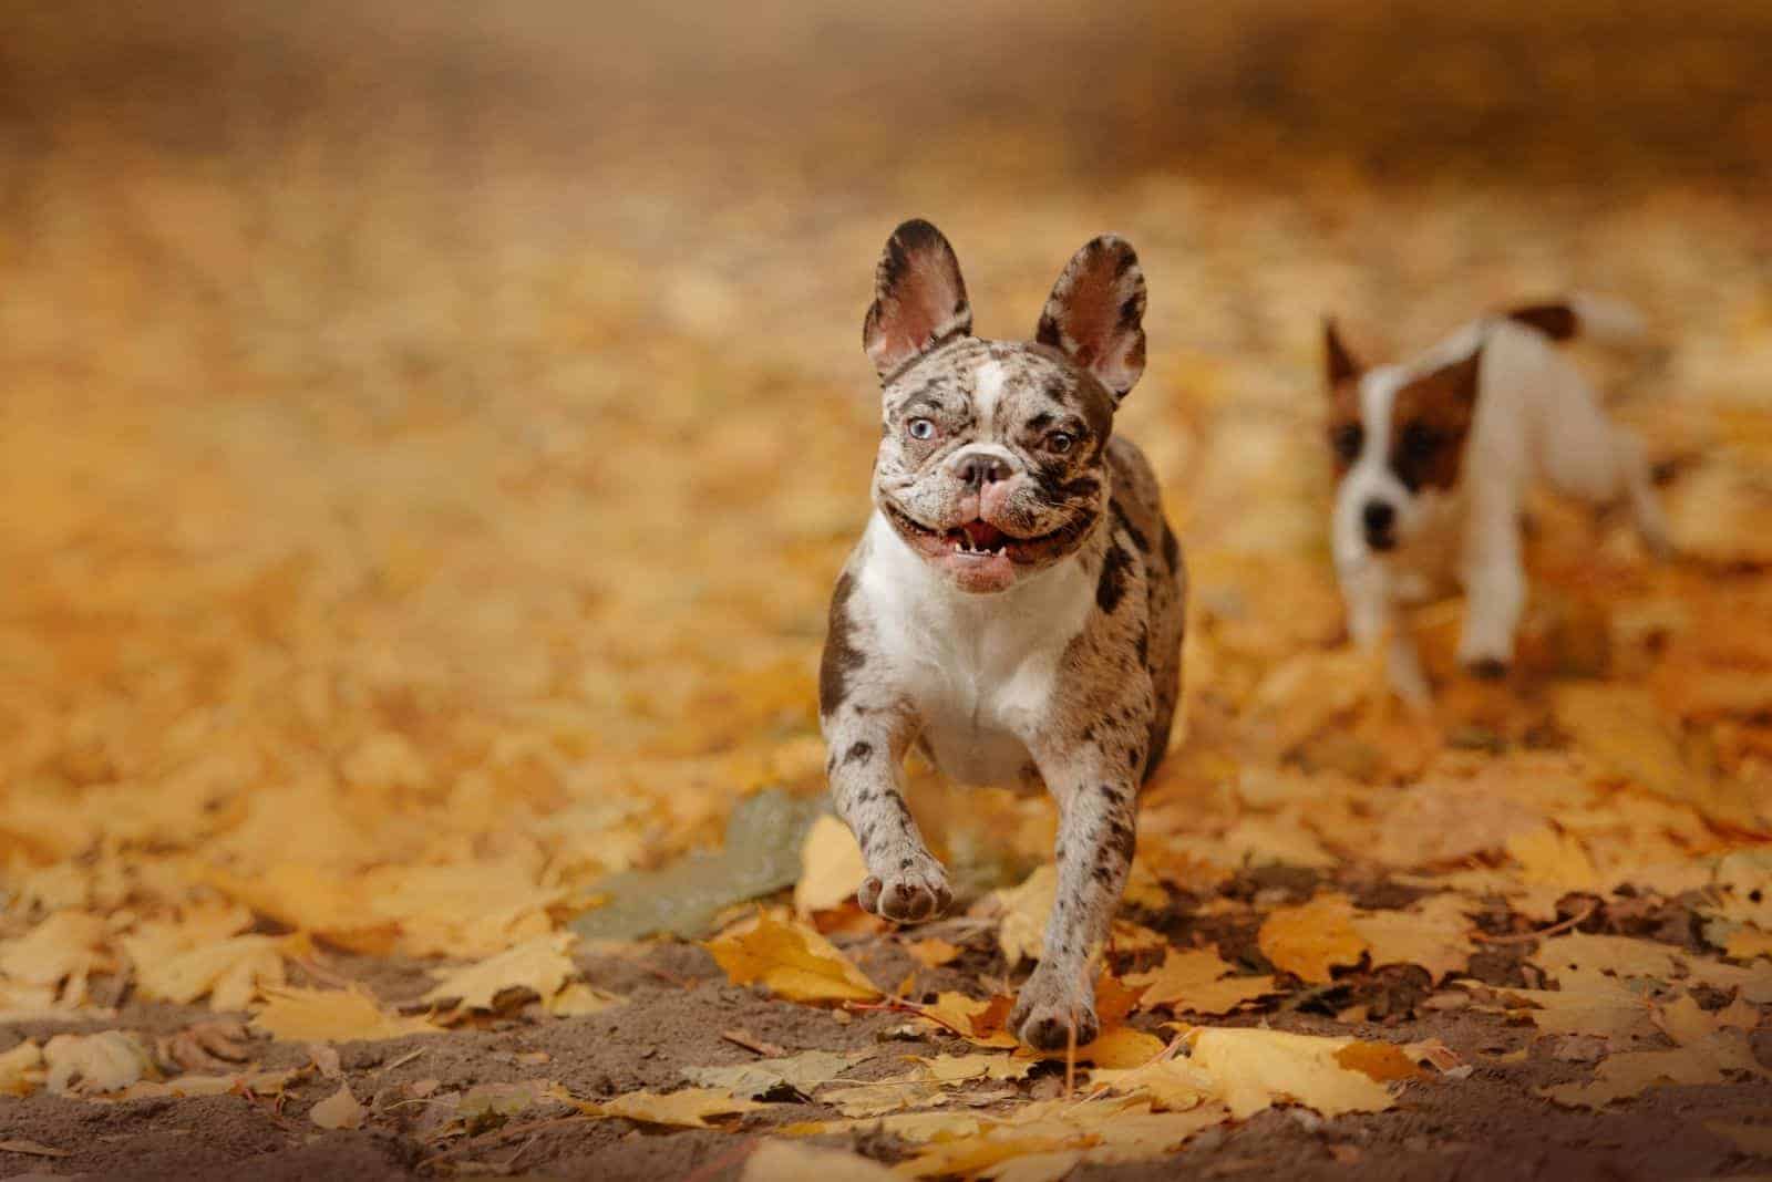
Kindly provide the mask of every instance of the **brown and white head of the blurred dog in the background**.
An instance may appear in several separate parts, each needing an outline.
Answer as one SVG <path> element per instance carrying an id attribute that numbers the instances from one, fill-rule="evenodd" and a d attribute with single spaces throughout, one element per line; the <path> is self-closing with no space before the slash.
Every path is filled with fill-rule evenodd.
<path id="1" fill-rule="evenodd" d="M 1352 563 L 1407 543 L 1426 508 L 1458 483 L 1476 414 L 1481 343 L 1432 368 L 1364 368 L 1324 322 L 1334 554 Z"/>

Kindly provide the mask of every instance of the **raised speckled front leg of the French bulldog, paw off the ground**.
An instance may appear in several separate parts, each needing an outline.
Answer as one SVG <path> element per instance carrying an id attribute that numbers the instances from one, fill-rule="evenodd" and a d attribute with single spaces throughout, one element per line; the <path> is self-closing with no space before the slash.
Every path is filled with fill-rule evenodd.
<path id="1" fill-rule="evenodd" d="M 948 872 L 904 803 L 904 754 L 913 733 L 909 715 L 890 710 L 842 710 L 826 722 L 831 800 L 868 867 L 856 902 L 902 924 L 934 918 L 953 901 Z"/>

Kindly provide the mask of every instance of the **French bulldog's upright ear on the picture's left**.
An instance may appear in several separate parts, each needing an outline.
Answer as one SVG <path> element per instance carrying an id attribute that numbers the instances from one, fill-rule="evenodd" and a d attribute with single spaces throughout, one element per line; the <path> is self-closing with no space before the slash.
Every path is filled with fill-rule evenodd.
<path id="1" fill-rule="evenodd" d="M 973 331 L 960 260 L 941 230 L 921 218 L 893 230 L 874 271 L 874 306 L 861 322 L 861 345 L 884 382 L 952 336 Z"/>

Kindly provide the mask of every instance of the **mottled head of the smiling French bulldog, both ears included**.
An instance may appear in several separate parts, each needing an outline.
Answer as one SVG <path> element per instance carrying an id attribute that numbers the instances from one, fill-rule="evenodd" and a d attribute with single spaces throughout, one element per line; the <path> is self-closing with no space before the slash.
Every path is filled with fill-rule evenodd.
<path id="1" fill-rule="evenodd" d="M 884 389 L 874 503 L 962 591 L 1074 552 L 1108 508 L 1108 437 L 1145 370 L 1145 276 L 1116 237 L 1079 249 L 1033 343 L 971 334 L 953 248 L 927 221 L 886 242 L 861 340 Z"/>

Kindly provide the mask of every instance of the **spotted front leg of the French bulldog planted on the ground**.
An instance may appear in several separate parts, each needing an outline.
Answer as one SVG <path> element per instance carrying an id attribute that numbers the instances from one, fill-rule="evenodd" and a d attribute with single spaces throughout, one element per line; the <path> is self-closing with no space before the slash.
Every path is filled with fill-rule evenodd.
<path id="1" fill-rule="evenodd" d="M 1015 1000 L 1008 1025 L 1022 1042 L 1061 1051 L 1100 1033 L 1095 1017 L 1093 956 L 1108 938 L 1115 908 L 1132 869 L 1138 817 L 1141 741 L 1049 773 L 1058 794 L 1058 899 L 1045 924 L 1045 950 Z M 1051 766 L 1051 764 L 1044 764 Z"/>

